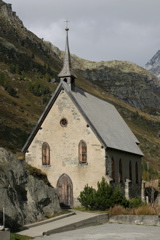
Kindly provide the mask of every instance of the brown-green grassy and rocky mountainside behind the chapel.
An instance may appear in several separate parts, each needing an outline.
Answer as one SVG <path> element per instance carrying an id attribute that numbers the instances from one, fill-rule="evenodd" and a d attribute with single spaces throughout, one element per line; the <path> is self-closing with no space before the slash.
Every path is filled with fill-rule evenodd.
<path id="1" fill-rule="evenodd" d="M 28 31 L 2 0 L 0 27 L 0 144 L 19 155 L 58 85 L 63 52 Z M 96 63 L 75 55 L 72 60 L 76 85 L 116 106 L 141 142 L 144 178 L 156 176 L 160 170 L 159 80 L 128 62 Z"/>

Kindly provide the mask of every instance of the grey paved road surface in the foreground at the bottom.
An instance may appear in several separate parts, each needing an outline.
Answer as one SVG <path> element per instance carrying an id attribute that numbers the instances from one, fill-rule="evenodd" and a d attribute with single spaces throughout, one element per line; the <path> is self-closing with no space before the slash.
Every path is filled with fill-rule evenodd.
<path id="1" fill-rule="evenodd" d="M 159 240 L 160 227 L 106 223 L 35 240 Z"/>

